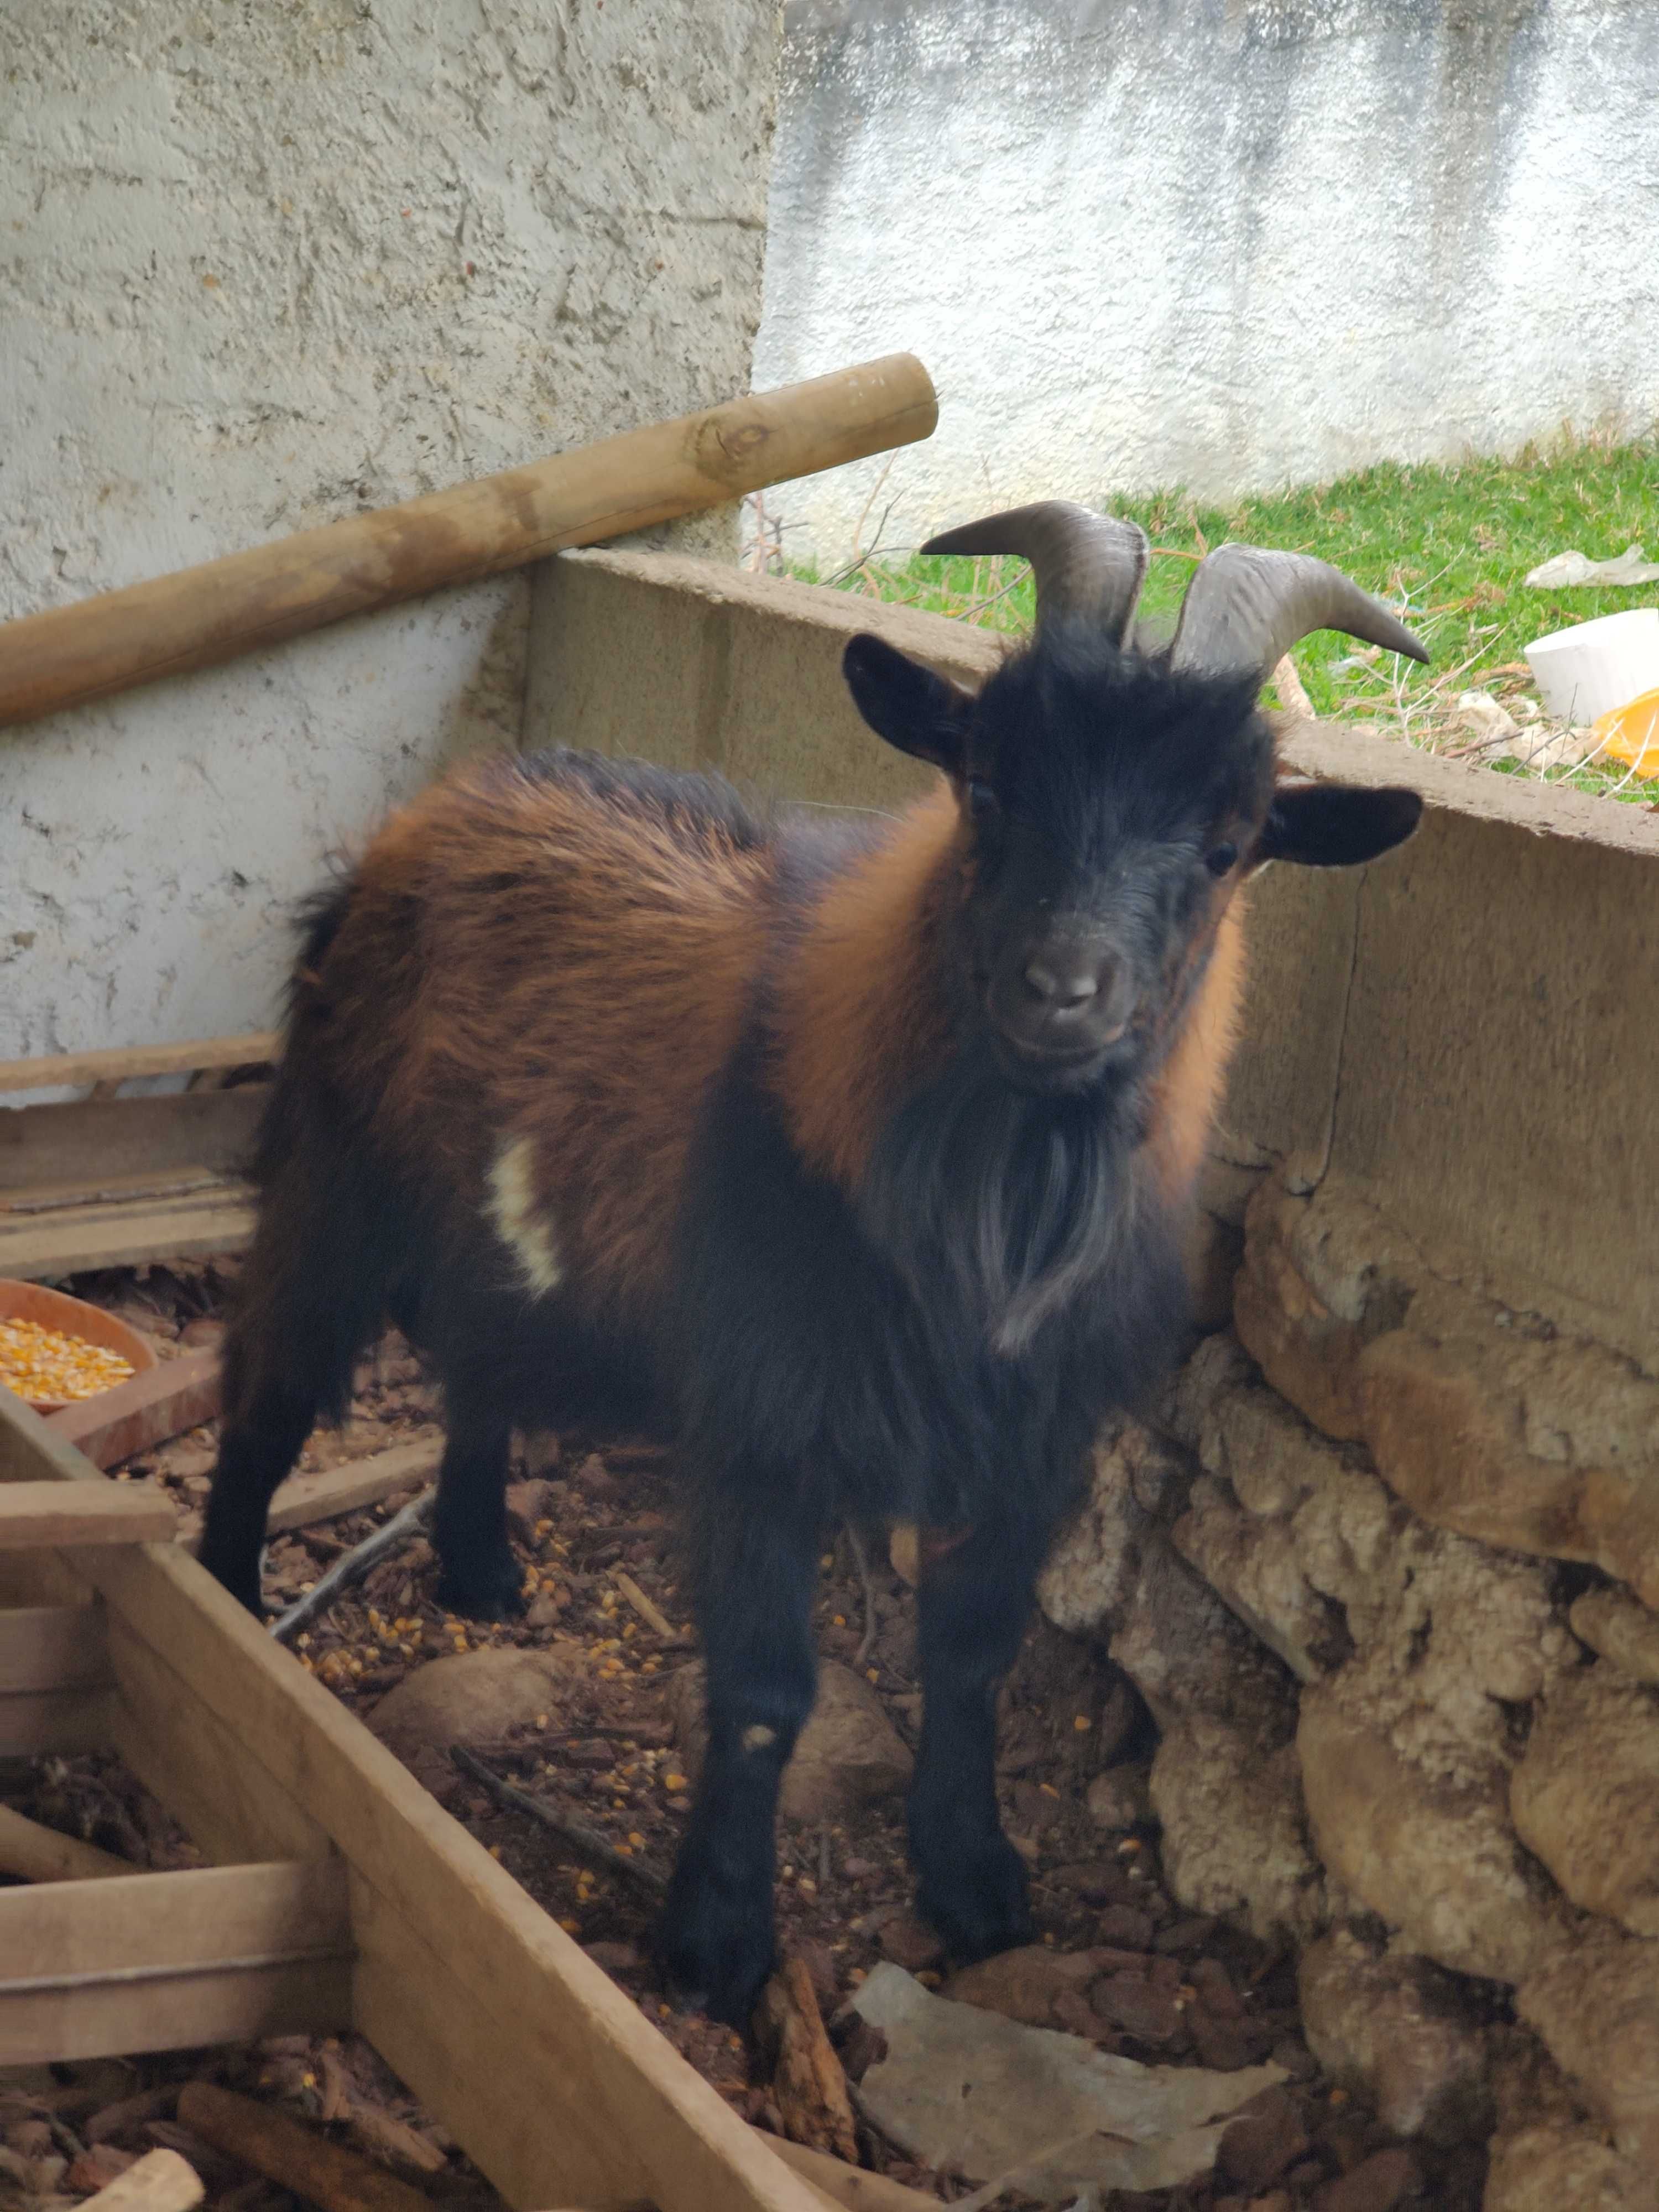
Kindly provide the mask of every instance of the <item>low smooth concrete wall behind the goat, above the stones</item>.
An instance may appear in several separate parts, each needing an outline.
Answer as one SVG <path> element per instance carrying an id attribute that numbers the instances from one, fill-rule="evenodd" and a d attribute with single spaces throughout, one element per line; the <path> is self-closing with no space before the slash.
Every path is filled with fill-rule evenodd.
<path id="1" fill-rule="evenodd" d="M 927 770 L 841 681 L 858 630 L 980 684 L 987 633 L 668 553 L 538 571 L 524 741 L 708 768 L 763 796 L 891 807 Z M 1285 765 L 1409 783 L 1376 869 L 1252 891 L 1230 1157 L 1340 1172 L 1486 1294 L 1659 1369 L 1659 816 L 1323 723 Z"/>

